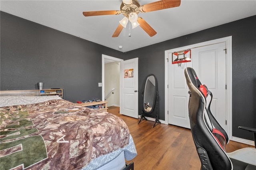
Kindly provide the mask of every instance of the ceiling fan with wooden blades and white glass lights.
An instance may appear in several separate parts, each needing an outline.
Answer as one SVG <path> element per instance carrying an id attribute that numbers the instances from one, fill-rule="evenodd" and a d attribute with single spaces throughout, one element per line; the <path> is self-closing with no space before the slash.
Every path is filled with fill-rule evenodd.
<path id="1" fill-rule="evenodd" d="M 123 28 L 126 28 L 127 23 L 130 21 L 132 28 L 140 26 L 150 37 L 156 35 L 156 31 L 141 17 L 138 13 L 151 12 L 156 10 L 163 10 L 180 6 L 180 0 L 160 0 L 140 6 L 138 0 L 122 0 L 120 10 L 108 11 L 87 11 L 83 12 L 84 16 L 99 16 L 99 15 L 118 15 L 123 14 L 124 18 L 119 22 L 112 37 L 118 37 Z"/>

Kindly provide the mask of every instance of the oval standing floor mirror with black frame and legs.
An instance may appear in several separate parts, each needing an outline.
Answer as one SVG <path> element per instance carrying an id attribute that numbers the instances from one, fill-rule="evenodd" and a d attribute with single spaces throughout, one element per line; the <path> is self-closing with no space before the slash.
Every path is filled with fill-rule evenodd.
<path id="1" fill-rule="evenodd" d="M 155 114 L 153 114 L 154 110 L 156 110 Z M 156 76 L 154 74 L 148 75 L 145 82 L 144 91 L 142 91 L 142 112 L 140 121 L 142 118 L 148 120 L 145 116 L 155 118 L 155 123 L 152 128 L 154 128 L 156 122 L 161 123 L 158 119 L 158 91 Z"/>

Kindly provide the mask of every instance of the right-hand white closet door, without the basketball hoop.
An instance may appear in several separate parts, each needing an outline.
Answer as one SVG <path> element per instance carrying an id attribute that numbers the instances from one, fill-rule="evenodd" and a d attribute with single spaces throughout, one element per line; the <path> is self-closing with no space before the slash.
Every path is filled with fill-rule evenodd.
<path id="1" fill-rule="evenodd" d="M 212 92 L 211 110 L 226 130 L 226 43 L 198 47 L 193 52 L 193 68 L 202 84 Z M 210 96 L 207 98 L 207 104 Z M 208 107 L 208 105 L 207 105 Z"/>

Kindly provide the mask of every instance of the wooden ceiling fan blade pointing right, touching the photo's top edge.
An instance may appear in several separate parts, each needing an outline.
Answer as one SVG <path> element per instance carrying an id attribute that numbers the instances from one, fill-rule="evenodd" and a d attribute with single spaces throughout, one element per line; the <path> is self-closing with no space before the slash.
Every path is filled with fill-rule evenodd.
<path id="1" fill-rule="evenodd" d="M 160 0 L 140 6 L 140 12 L 151 12 L 180 6 L 180 0 Z"/>

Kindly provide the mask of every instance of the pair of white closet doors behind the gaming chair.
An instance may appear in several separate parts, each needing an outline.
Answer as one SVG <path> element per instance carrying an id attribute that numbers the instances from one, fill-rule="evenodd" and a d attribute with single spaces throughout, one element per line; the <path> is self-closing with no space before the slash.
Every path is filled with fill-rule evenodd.
<path id="1" fill-rule="evenodd" d="M 225 42 L 191 49 L 191 62 L 185 65 L 184 68 L 192 67 L 196 71 L 201 83 L 205 84 L 213 93 L 212 112 L 220 125 L 226 130 L 225 49 Z M 177 64 L 169 62 L 168 75 L 168 122 L 172 125 L 190 128 L 188 117 L 188 87 L 186 85 L 184 69 L 180 69 Z"/>

